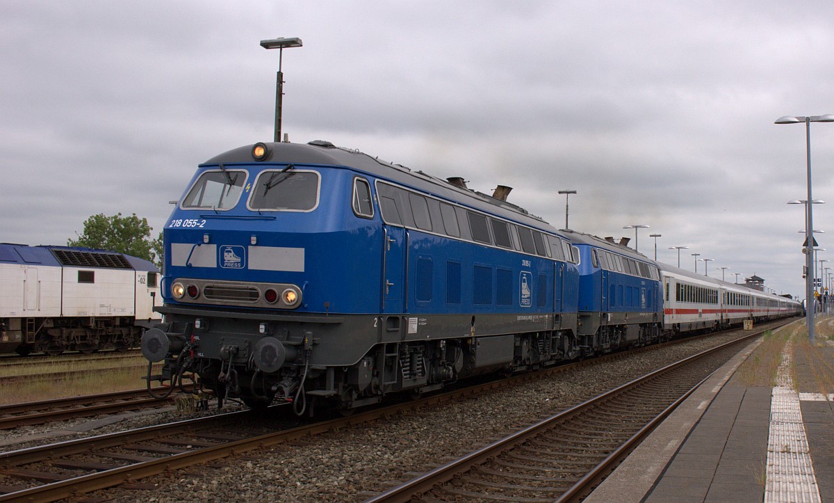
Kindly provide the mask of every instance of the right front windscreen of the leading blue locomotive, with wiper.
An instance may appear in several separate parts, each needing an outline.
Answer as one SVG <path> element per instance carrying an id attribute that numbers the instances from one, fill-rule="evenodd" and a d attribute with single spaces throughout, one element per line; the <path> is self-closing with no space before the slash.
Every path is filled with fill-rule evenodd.
<path id="1" fill-rule="evenodd" d="M 315 171 L 265 170 L 249 197 L 254 211 L 313 211 L 319 206 L 319 174 Z"/>

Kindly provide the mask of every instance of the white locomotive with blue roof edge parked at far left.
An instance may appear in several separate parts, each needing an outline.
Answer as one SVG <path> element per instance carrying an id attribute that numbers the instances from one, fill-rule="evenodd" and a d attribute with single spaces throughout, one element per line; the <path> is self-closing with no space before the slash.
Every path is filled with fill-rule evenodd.
<path id="1" fill-rule="evenodd" d="M 157 280 L 123 253 L 0 243 L 0 353 L 134 348 L 162 318 Z"/>

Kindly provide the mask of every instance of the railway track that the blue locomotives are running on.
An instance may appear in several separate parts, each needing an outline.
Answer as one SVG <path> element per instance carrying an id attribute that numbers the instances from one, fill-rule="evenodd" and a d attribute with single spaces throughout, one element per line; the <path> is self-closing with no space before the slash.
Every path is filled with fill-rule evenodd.
<path id="1" fill-rule="evenodd" d="M 646 349 L 651 350 L 641 350 Z M 625 353 L 550 368 L 539 373 L 517 375 L 510 379 L 373 409 L 348 418 L 303 425 L 298 425 L 295 419 L 284 419 L 282 424 L 267 425 L 268 433 L 256 431 L 266 424 L 264 416 L 244 410 L 2 453 L 0 501 L 58 500 L 115 485 L 130 488 L 136 485 L 137 480 L 158 475 L 165 470 L 176 470 L 250 450 L 263 450 L 304 436 L 388 418 L 405 410 L 439 406 L 463 396 L 504 387 L 511 382 L 539 379 L 551 373 L 593 365 L 603 359 L 621 358 L 622 354 Z M 615 416 L 610 414 L 610 418 Z M 249 419 L 257 420 L 253 422 Z M 252 429 L 249 426 L 244 428 L 247 424 Z"/>

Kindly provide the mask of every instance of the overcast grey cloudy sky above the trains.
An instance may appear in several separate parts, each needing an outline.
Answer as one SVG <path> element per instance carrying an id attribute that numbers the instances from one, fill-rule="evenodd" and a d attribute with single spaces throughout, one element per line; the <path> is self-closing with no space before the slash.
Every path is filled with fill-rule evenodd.
<path id="1" fill-rule="evenodd" d="M 557 227 L 800 294 L 803 124 L 834 114 L 834 3 L 0 0 L 0 241 L 88 216 L 161 231 L 198 163 L 274 131 L 463 176 Z M 834 124 L 811 124 L 814 227 L 834 261 Z M 633 246 L 633 241 L 632 241 Z M 698 262 L 704 272 L 705 262 Z M 830 263 L 831 264 L 831 263 Z M 827 265 L 827 264 L 826 264 Z M 831 264 L 834 265 L 834 264 Z"/>

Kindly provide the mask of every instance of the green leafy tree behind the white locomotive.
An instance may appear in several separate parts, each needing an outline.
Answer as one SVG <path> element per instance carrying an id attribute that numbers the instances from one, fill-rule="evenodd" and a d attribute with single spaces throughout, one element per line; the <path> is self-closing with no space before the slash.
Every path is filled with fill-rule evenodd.
<path id="1" fill-rule="evenodd" d="M 99 213 L 84 221 L 84 231 L 80 236 L 76 232 L 78 239 L 67 240 L 67 245 L 126 253 L 156 262 L 159 267 L 158 261 L 162 261 L 162 234 L 152 240 L 151 231 L 153 227 L 148 225 L 148 219 L 140 219 L 136 213 L 131 216 L 122 216 L 121 213 L 105 216 Z"/>

